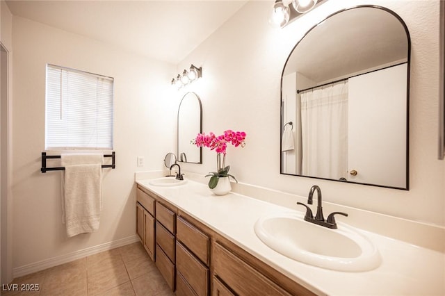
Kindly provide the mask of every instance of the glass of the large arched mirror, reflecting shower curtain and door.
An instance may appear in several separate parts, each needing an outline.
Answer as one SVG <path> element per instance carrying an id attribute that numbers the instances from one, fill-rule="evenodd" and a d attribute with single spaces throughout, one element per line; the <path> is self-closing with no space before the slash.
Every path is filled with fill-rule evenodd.
<path id="1" fill-rule="evenodd" d="M 409 74 L 410 35 L 391 10 L 314 26 L 282 72 L 281 173 L 407 190 Z"/>

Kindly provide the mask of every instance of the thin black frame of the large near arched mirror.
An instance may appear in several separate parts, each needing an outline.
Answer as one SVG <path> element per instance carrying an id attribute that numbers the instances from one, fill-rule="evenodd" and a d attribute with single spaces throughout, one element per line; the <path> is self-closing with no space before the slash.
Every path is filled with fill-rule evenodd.
<path id="1" fill-rule="evenodd" d="M 380 10 L 385 10 L 385 12 L 390 13 L 398 21 L 401 23 L 403 28 L 405 29 L 406 38 L 407 38 L 407 95 L 406 95 L 406 172 L 405 172 L 405 179 L 406 179 L 406 186 L 405 188 L 401 187 L 395 187 L 395 186 L 384 186 L 379 184 L 373 184 L 373 183 L 360 183 L 355 181 L 343 181 L 343 180 L 337 180 L 337 179 L 327 179 L 317 176 L 305 176 L 305 175 L 299 175 L 299 174 L 289 174 L 282 172 L 283 170 L 283 151 L 282 151 L 282 136 L 283 136 L 283 126 L 284 126 L 284 117 L 283 117 L 283 106 L 282 106 L 282 95 L 283 95 L 283 76 L 284 76 L 284 70 L 286 69 L 286 65 L 289 62 L 289 58 L 291 58 L 291 55 L 293 51 L 298 47 L 298 44 L 309 34 L 311 33 L 314 28 L 316 28 L 319 24 L 325 22 L 330 17 L 337 15 L 339 13 L 343 13 L 346 10 L 353 10 L 357 8 L 375 8 Z M 392 189 L 399 189 L 399 190 L 410 190 L 410 69 L 411 69 L 411 38 L 410 38 L 410 32 L 408 31 L 407 25 L 403 21 L 403 19 L 395 13 L 393 10 L 390 10 L 389 8 L 385 8 L 383 6 L 377 6 L 377 5 L 358 5 L 358 6 L 352 6 L 350 8 L 344 8 L 341 10 L 338 10 L 335 13 L 332 13 L 325 17 L 325 19 L 321 20 L 312 28 L 310 28 L 300 40 L 296 43 L 296 45 L 291 49 L 289 56 L 286 58 L 286 62 L 284 63 L 284 67 L 281 74 L 281 80 L 280 80 L 280 174 L 288 175 L 288 176 L 299 176 L 299 177 L 305 177 L 305 178 L 312 178 L 312 179 L 322 179 L 322 180 L 328 180 L 328 181 L 336 181 L 341 183 L 353 183 L 353 184 L 360 184 L 360 185 L 367 185 L 367 186 L 375 186 L 375 187 L 382 187 L 382 188 L 392 188 Z"/>

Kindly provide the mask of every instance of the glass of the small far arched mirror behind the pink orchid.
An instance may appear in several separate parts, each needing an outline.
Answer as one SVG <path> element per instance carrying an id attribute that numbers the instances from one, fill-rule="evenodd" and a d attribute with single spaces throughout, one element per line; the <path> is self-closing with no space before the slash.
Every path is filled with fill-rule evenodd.
<path id="1" fill-rule="evenodd" d="M 202 104 L 195 92 L 187 92 L 179 103 L 177 158 L 181 163 L 202 163 L 202 148 L 191 144 L 202 133 Z"/>

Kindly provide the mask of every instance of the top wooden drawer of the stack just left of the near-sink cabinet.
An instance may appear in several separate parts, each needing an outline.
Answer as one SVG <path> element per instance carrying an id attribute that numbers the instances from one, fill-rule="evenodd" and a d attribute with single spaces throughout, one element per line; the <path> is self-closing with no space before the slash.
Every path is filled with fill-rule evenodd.
<path id="1" fill-rule="evenodd" d="M 177 217 L 177 240 L 182 242 L 197 258 L 209 266 L 209 236 L 202 233 L 183 217 Z"/>

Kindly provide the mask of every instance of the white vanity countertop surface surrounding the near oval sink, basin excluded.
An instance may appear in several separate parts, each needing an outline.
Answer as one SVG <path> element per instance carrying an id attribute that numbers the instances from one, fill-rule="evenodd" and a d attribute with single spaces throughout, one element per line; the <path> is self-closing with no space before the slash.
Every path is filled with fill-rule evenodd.
<path id="1" fill-rule="evenodd" d="M 172 187 L 149 181 L 136 183 L 318 295 L 445 295 L 444 253 L 362 231 L 378 246 L 380 267 L 369 272 L 325 270 L 275 252 L 254 233 L 259 217 L 293 210 L 233 192 L 216 196 L 207 185 L 191 180 Z"/>

